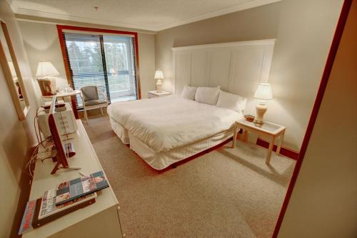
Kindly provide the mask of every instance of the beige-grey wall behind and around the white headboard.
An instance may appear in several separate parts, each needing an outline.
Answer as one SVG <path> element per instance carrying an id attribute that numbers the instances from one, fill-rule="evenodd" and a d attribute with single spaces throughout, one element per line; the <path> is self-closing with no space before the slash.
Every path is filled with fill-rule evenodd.
<path id="1" fill-rule="evenodd" d="M 276 38 L 269 79 L 274 99 L 266 120 L 286 125 L 284 145 L 299 150 L 341 4 L 284 0 L 159 31 L 155 58 L 166 76 L 163 88 L 172 90 L 171 47 Z"/>

